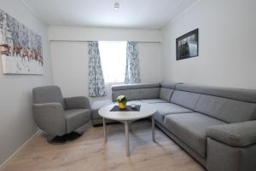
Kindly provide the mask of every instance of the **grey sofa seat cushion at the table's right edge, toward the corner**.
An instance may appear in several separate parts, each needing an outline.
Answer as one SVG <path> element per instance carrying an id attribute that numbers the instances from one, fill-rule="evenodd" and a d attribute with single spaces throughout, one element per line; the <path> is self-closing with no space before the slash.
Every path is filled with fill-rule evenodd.
<path id="1" fill-rule="evenodd" d="M 154 119 L 158 123 L 164 123 L 164 118 L 168 114 L 173 114 L 173 113 L 189 113 L 193 112 L 183 106 L 180 105 L 175 105 L 172 103 L 155 103 L 153 104 L 157 108 L 157 112 L 154 114 Z"/>

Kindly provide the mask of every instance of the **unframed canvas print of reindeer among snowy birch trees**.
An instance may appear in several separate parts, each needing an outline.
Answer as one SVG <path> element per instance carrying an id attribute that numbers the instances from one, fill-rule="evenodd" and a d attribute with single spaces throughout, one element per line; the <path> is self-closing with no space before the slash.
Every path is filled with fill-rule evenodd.
<path id="1" fill-rule="evenodd" d="M 4 74 L 44 74 L 42 38 L 2 9 L 0 55 Z"/>

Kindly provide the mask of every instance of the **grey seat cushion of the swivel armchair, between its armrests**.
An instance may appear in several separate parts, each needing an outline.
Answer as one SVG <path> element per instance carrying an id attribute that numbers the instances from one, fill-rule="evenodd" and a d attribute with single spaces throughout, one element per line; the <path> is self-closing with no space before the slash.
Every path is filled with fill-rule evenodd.
<path id="1" fill-rule="evenodd" d="M 64 111 L 64 114 L 67 122 L 67 134 L 90 121 L 89 109 L 71 109 Z"/>

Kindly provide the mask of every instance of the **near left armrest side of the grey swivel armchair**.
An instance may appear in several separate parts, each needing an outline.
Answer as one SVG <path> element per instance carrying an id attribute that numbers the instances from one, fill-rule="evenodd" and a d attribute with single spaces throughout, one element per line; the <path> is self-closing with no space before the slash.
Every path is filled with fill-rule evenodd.
<path id="1" fill-rule="evenodd" d="M 33 116 L 38 127 L 48 134 L 66 134 L 66 117 L 61 103 L 34 104 Z"/>

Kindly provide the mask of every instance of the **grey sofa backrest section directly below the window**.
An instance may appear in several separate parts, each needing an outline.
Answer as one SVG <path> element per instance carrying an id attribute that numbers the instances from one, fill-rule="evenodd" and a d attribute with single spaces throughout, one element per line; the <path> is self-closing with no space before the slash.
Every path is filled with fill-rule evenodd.
<path id="1" fill-rule="evenodd" d="M 127 100 L 147 100 L 159 98 L 159 83 L 157 84 L 125 84 L 112 87 L 112 100 L 119 95 L 125 95 Z"/>

